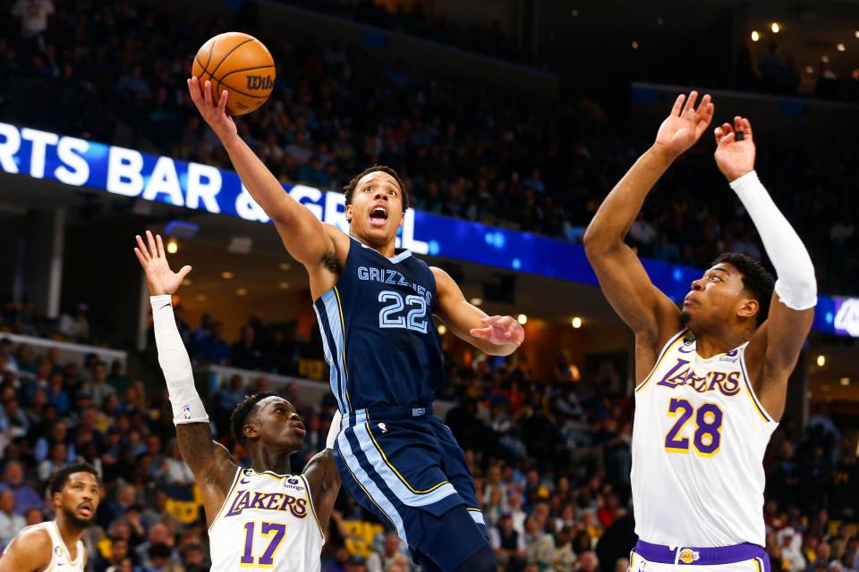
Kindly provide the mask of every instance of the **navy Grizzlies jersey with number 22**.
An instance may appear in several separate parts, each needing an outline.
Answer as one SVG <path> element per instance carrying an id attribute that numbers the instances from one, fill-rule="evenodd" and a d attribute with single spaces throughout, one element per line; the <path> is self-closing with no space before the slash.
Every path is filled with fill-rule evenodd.
<path id="1" fill-rule="evenodd" d="M 313 304 L 340 411 L 429 404 L 444 383 L 435 276 L 408 250 L 387 258 L 350 241 L 336 286 Z"/>

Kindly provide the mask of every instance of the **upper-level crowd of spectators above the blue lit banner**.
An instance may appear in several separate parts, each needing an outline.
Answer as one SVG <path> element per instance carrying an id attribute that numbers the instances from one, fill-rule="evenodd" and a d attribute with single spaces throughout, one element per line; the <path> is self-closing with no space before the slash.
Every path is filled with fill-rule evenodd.
<path id="1" fill-rule="evenodd" d="M 427 77 L 403 61 L 381 63 L 357 46 L 269 37 L 254 28 L 252 11 L 205 19 L 172 4 L 29 1 L 48 15 L 0 13 L 0 79 L 15 79 L 3 82 L 0 116 L 13 122 L 124 137 L 228 167 L 184 79 L 206 38 L 240 27 L 266 42 L 277 79 L 270 101 L 238 124 L 281 181 L 340 189 L 367 164 L 389 164 L 419 209 L 578 241 L 645 144 L 596 101 L 538 105 L 472 80 Z M 764 81 L 783 71 L 779 58 L 761 61 Z M 43 110 L 45 93 L 52 101 Z M 855 292 L 855 145 L 757 137 L 758 170 L 810 246 L 822 290 Z M 645 204 L 630 238 L 642 254 L 698 266 L 723 250 L 763 254 L 704 147 L 672 168 Z"/>

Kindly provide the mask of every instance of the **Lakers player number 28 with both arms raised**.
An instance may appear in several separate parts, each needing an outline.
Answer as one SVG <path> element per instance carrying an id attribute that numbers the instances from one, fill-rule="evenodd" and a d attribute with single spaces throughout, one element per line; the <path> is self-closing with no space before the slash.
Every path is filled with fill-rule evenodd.
<path id="1" fill-rule="evenodd" d="M 584 237 L 603 292 L 635 333 L 632 483 L 641 540 L 631 569 L 769 572 L 763 454 L 785 409 L 817 286 L 802 240 L 754 172 L 749 121 L 736 117 L 716 129 L 716 164 L 761 234 L 774 285 L 750 257 L 723 254 L 692 282 L 678 310 L 624 243 L 653 185 L 710 124 L 710 96 L 696 109 L 697 97 L 677 97 L 656 142 Z"/>

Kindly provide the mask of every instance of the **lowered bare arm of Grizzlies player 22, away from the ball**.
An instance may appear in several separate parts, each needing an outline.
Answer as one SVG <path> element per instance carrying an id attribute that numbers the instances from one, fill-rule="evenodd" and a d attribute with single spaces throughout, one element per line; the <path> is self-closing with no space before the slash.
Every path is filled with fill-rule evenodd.
<path id="1" fill-rule="evenodd" d="M 487 315 L 468 302 L 450 274 L 430 267 L 436 278 L 435 310 L 458 338 L 490 356 L 509 356 L 525 340 L 522 325 L 509 315 Z"/>

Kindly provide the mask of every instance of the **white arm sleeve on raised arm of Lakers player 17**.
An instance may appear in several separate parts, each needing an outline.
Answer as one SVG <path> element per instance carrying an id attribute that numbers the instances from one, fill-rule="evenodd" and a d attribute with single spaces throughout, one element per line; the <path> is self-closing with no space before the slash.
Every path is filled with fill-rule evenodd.
<path id="1" fill-rule="evenodd" d="M 191 358 L 176 327 L 171 297 L 168 294 L 151 296 L 149 302 L 152 304 L 158 363 L 164 372 L 170 405 L 173 406 L 173 423 L 208 423 L 206 408 L 194 387 Z"/>

